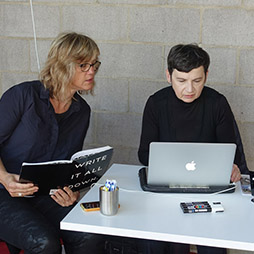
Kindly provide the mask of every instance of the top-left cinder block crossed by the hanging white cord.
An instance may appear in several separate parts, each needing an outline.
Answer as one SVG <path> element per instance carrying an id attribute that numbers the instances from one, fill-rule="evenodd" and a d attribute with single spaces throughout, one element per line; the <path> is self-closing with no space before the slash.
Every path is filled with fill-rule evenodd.
<path id="1" fill-rule="evenodd" d="M 3 36 L 33 37 L 29 5 L 3 5 Z M 60 31 L 59 8 L 34 5 L 34 19 L 38 37 L 55 37 Z"/>

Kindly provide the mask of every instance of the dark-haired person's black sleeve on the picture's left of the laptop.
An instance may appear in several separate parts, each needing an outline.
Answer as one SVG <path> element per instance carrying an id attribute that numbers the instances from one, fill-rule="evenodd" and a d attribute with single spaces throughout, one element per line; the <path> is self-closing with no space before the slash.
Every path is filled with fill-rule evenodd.
<path id="1" fill-rule="evenodd" d="M 150 97 L 145 105 L 143 113 L 142 131 L 138 150 L 139 161 L 145 166 L 148 165 L 150 143 L 152 141 L 159 140 L 159 126 L 157 117 L 158 114 L 156 114 L 153 98 Z"/>

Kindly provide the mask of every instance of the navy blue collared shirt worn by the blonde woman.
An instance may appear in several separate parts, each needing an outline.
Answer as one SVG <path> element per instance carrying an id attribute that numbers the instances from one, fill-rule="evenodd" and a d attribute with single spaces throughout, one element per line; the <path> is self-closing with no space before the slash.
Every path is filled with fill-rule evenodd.
<path id="1" fill-rule="evenodd" d="M 56 118 L 40 81 L 11 87 L 0 100 L 0 157 L 6 170 L 19 174 L 24 161 L 70 159 L 83 147 L 90 113 L 75 94 L 68 111 Z"/>

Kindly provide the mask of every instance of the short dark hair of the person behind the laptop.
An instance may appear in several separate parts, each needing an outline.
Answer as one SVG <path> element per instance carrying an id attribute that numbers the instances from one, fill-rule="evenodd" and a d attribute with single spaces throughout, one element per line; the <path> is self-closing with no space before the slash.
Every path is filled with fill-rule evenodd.
<path id="1" fill-rule="evenodd" d="M 172 75 L 176 69 L 182 72 L 190 72 L 200 66 L 204 67 L 205 73 L 210 64 L 208 53 L 197 44 L 178 44 L 172 47 L 168 54 L 168 71 Z"/>

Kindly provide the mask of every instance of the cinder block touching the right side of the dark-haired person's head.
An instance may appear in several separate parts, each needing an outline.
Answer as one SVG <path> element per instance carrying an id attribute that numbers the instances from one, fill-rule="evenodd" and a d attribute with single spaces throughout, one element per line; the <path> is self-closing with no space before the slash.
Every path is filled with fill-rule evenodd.
<path id="1" fill-rule="evenodd" d="M 232 48 L 204 48 L 210 55 L 208 83 L 235 84 L 237 52 Z"/>

